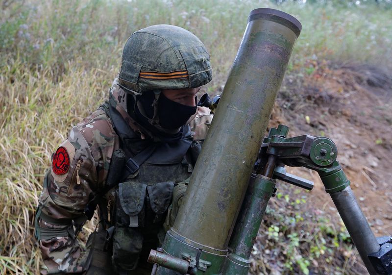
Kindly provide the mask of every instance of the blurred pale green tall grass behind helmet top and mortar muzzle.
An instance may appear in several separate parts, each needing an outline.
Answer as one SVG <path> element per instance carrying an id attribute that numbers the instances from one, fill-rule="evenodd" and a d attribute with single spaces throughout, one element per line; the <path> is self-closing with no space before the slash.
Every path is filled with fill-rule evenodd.
<path id="1" fill-rule="evenodd" d="M 246 26 L 249 11 L 279 8 L 300 20 L 302 34 L 292 62 L 309 58 L 353 59 L 391 66 L 391 9 L 376 5 L 335 7 L 266 0 L 8 0 L 0 25 L 1 65 L 19 57 L 29 67 L 64 73 L 64 63 L 82 58 L 88 67 L 118 66 L 126 38 L 154 24 L 172 24 L 194 32 L 208 47 L 216 71 L 227 73 Z M 24 3 L 24 4 L 22 4 Z M 392 5 L 392 4 L 391 4 Z M 115 52 L 113 52 L 115 50 Z M 114 54 L 113 54 L 114 53 Z M 102 64 L 102 61 L 104 64 Z"/>

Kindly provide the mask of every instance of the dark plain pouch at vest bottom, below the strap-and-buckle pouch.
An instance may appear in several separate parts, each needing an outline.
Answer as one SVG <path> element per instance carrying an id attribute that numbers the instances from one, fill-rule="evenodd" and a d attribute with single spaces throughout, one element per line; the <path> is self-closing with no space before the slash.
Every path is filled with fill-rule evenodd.
<path id="1" fill-rule="evenodd" d="M 112 264 L 118 270 L 134 270 L 142 251 L 143 236 L 136 228 L 117 227 L 113 234 Z"/>

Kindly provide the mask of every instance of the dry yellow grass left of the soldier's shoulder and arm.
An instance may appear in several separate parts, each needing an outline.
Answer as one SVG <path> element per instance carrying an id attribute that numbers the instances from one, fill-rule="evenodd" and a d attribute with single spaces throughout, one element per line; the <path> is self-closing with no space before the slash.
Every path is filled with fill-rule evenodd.
<path id="1" fill-rule="evenodd" d="M 48 71 L 31 74 L 15 63 L 0 78 L 0 270 L 2 274 L 38 274 L 33 213 L 52 150 L 71 128 L 98 107 L 115 70 L 85 70 L 77 62 L 59 83 Z M 13 82 L 13 83 L 11 83 Z M 76 96 L 83 95 L 86 96 Z M 88 96 L 87 96 L 88 95 Z M 59 108 L 63 106 L 63 108 Z"/>

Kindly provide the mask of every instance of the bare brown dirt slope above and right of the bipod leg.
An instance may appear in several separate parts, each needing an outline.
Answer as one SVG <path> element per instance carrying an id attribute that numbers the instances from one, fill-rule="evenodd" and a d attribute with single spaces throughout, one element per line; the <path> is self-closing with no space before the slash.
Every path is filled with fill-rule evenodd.
<path id="1" fill-rule="evenodd" d="M 314 68 L 299 82 L 288 77 L 278 108 L 292 136 L 309 133 L 335 141 L 373 229 L 392 234 L 392 77 L 367 65 L 322 62 Z"/>

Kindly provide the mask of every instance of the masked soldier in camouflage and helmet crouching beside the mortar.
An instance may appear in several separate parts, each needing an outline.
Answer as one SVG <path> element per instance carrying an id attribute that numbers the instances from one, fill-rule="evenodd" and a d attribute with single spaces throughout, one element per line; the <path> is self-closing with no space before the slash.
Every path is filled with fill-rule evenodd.
<path id="1" fill-rule="evenodd" d="M 109 100 L 52 155 L 35 224 L 43 273 L 150 274 L 173 189 L 196 163 L 188 123 L 211 79 L 209 54 L 191 32 L 154 25 L 130 36 Z M 76 235 L 97 205 L 98 229 L 82 249 Z"/>

